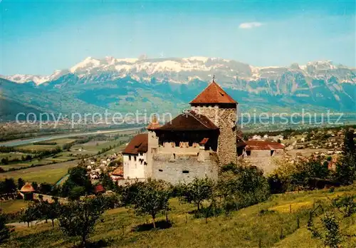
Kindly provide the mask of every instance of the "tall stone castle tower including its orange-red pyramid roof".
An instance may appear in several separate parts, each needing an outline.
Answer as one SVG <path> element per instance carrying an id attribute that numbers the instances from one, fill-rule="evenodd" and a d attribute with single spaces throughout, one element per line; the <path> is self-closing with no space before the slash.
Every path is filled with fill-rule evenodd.
<path id="1" fill-rule="evenodd" d="M 219 165 L 236 162 L 237 102 L 213 78 L 204 91 L 190 102 L 194 112 L 205 115 L 219 128 Z"/>

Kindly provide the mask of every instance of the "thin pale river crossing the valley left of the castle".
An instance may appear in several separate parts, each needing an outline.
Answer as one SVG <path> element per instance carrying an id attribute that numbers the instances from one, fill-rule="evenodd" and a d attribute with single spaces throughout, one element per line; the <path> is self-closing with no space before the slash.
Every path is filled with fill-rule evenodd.
<path id="1" fill-rule="evenodd" d="M 45 140 L 57 140 L 61 138 L 68 138 L 68 137 L 75 137 L 75 136 L 83 136 L 83 135 L 98 135 L 102 133 L 117 133 L 123 131 L 130 131 L 130 130 L 140 130 L 142 127 L 135 127 L 135 128 L 120 128 L 115 130 L 97 130 L 92 132 L 85 132 L 85 133 L 68 133 L 68 134 L 61 134 L 61 135 L 48 135 L 42 136 L 38 138 L 30 138 L 26 140 L 10 140 L 6 142 L 0 143 L 0 146 L 17 146 L 17 145 L 26 145 L 31 143 L 36 143 L 39 141 Z"/>

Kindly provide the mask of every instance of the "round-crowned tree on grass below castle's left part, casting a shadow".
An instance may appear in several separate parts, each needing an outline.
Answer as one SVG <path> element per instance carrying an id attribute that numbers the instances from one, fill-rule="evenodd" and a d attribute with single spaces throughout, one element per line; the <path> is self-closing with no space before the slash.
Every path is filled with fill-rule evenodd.
<path id="1" fill-rule="evenodd" d="M 161 211 L 169 207 L 169 190 L 163 181 L 148 180 L 138 187 L 133 200 L 133 208 L 137 215 L 151 215 L 153 227 L 156 228 L 155 218 Z"/>

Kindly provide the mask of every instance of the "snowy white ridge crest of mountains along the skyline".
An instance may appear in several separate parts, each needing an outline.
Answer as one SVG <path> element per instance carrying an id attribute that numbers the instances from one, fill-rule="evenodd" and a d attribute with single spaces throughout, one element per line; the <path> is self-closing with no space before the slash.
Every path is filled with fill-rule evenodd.
<path id="1" fill-rule="evenodd" d="M 355 76 L 356 69 L 347 66 L 335 66 L 332 61 L 313 61 L 306 65 L 299 66 L 298 63 L 292 63 L 288 66 L 251 66 L 247 63 L 228 60 L 224 58 L 210 58 L 202 56 L 193 56 L 188 58 L 113 58 L 106 56 L 105 58 L 87 57 L 83 61 L 75 64 L 71 68 L 64 70 L 56 70 L 48 76 L 38 75 L 21 75 L 0 76 L 1 78 L 14 81 L 16 83 L 26 83 L 33 81 L 36 85 L 46 83 L 58 79 L 69 73 L 75 73 L 80 77 L 88 76 L 88 74 L 111 72 L 112 79 L 132 76 L 148 80 L 157 73 L 189 73 L 189 72 L 206 72 L 202 78 L 199 76 L 182 76 L 181 80 L 171 81 L 174 83 L 188 83 L 195 78 L 206 81 L 211 78 L 211 73 L 219 73 L 224 71 L 226 76 L 230 78 L 240 78 L 248 81 L 258 80 L 261 78 L 276 78 L 280 73 L 286 71 L 300 71 L 305 76 L 320 78 L 323 76 L 333 75 L 333 71 L 352 72 Z M 143 74 L 143 75 L 142 75 Z M 326 74 L 326 75 L 325 75 Z M 207 78 L 209 77 L 209 78 Z M 160 77 L 158 77 L 160 78 Z M 355 78 L 344 75 L 341 83 L 356 83 Z"/>

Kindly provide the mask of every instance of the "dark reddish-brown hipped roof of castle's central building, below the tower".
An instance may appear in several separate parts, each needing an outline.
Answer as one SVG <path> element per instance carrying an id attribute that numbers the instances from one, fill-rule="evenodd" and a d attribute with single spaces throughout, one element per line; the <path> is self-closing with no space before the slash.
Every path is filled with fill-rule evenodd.
<path id="1" fill-rule="evenodd" d="M 217 130 L 214 123 L 205 115 L 198 115 L 193 110 L 187 113 L 182 113 L 174 118 L 169 123 L 162 125 L 157 130 L 172 130 L 172 131 L 198 131 L 198 130 Z"/>

